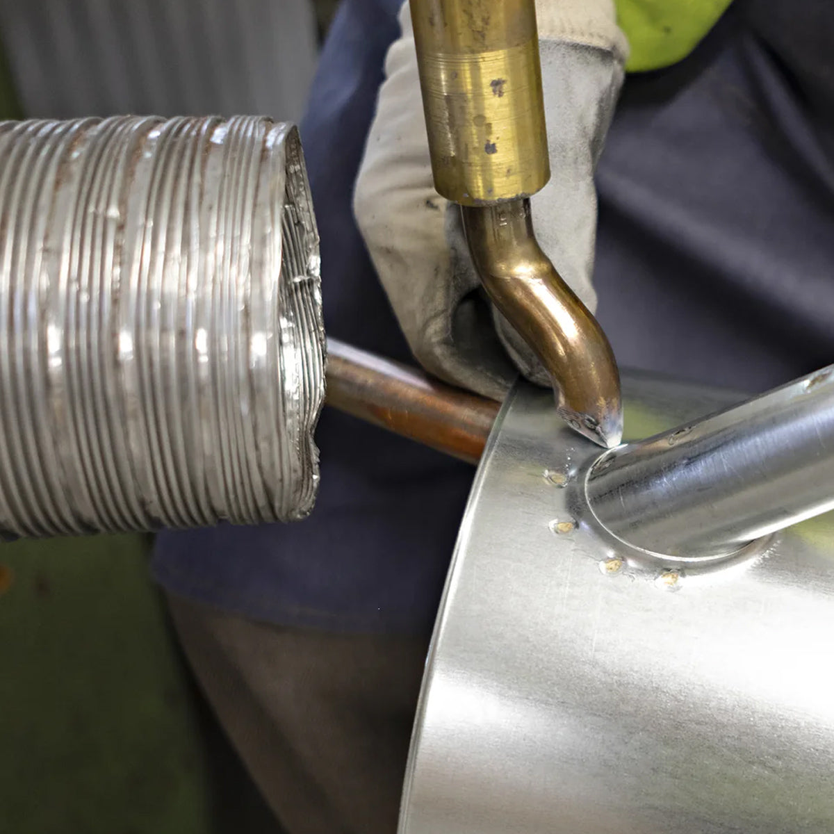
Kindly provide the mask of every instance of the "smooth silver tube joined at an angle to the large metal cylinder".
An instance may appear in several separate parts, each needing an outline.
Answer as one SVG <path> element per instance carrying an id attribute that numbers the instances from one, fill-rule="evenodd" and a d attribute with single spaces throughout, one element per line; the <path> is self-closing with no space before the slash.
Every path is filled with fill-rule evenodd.
<path id="1" fill-rule="evenodd" d="M 834 508 L 834 365 L 611 450 L 587 500 L 627 544 L 711 558 Z"/>

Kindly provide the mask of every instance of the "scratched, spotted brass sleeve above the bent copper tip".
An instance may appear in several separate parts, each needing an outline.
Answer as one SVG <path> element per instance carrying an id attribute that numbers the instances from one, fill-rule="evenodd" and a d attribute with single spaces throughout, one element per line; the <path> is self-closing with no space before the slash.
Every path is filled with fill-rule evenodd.
<path id="1" fill-rule="evenodd" d="M 533 0 L 411 0 L 435 188 L 462 205 L 550 178 Z"/>

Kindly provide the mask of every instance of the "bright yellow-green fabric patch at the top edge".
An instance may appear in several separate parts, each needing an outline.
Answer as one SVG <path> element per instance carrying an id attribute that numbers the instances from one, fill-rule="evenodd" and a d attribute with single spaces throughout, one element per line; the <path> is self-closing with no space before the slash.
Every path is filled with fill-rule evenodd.
<path id="1" fill-rule="evenodd" d="M 668 67 L 691 53 L 731 0 L 615 0 L 617 23 L 631 53 L 625 69 Z"/>

